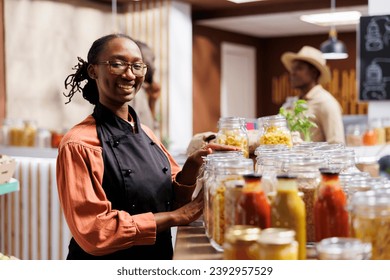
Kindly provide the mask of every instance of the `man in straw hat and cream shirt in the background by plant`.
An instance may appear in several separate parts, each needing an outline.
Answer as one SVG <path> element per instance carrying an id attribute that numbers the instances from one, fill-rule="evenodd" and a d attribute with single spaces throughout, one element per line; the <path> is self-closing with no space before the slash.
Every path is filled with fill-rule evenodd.
<path id="1" fill-rule="evenodd" d="M 304 46 L 298 53 L 286 52 L 281 56 L 290 72 L 291 85 L 300 91 L 297 99 L 307 101 L 308 114 L 313 115 L 317 127 L 311 129 L 314 142 L 345 143 L 342 108 L 336 98 L 322 85 L 330 81 L 330 70 L 321 51 Z M 288 108 L 294 99 L 283 106 Z"/>

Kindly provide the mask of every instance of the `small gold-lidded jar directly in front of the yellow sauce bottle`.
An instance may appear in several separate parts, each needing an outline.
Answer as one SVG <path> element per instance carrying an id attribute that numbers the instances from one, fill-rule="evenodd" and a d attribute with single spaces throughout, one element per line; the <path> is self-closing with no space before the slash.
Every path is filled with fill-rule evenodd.
<path id="1" fill-rule="evenodd" d="M 257 239 L 259 260 L 298 260 L 295 231 L 286 228 L 267 228 Z"/>

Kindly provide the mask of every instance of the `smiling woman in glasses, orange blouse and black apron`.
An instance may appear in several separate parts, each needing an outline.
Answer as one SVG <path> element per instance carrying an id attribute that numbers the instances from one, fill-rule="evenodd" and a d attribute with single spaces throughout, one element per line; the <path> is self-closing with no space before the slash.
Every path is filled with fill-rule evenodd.
<path id="1" fill-rule="evenodd" d="M 171 259 L 173 226 L 202 214 L 191 201 L 202 157 L 235 147 L 209 144 L 180 168 L 128 105 L 147 73 L 137 43 L 124 34 L 97 39 L 65 80 L 93 113 L 63 137 L 57 188 L 72 239 L 67 259 Z"/>

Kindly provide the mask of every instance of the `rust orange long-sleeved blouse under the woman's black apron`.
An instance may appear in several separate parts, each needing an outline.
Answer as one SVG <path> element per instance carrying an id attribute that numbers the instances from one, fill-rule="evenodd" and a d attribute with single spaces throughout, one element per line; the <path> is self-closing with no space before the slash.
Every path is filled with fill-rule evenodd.
<path id="1" fill-rule="evenodd" d="M 167 155 L 172 187 L 179 203 L 189 201 L 194 186 L 175 181 L 179 165 L 146 126 L 146 134 Z M 89 115 L 62 139 L 57 157 L 57 188 L 65 219 L 80 247 L 92 255 L 106 255 L 133 245 L 154 244 L 156 221 L 152 213 L 130 215 L 111 208 L 102 187 L 102 148 L 95 119 Z"/>

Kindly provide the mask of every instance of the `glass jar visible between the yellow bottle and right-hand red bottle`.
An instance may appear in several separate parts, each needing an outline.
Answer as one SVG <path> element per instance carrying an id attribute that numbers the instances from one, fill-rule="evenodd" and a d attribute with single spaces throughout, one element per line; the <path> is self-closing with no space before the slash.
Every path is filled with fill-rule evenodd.
<path id="1" fill-rule="evenodd" d="M 314 156 L 291 158 L 284 164 L 287 173 L 297 177 L 298 191 L 303 193 L 302 199 L 306 210 L 306 242 L 315 241 L 314 202 L 321 182 L 319 169 L 325 164 L 323 158 Z"/>

